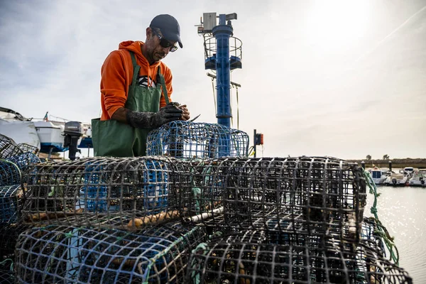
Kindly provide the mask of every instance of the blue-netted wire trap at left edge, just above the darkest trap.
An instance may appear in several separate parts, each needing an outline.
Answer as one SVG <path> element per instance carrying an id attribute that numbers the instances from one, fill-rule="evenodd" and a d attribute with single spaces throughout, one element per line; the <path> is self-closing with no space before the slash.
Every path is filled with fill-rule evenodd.
<path id="1" fill-rule="evenodd" d="M 18 221 L 18 210 L 22 198 L 21 185 L 4 185 L 0 187 L 0 223 Z"/>

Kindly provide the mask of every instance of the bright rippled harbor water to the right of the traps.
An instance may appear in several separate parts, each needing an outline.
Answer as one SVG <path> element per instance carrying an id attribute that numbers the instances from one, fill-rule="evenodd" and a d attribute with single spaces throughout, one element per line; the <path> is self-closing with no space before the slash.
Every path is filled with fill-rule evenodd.
<path id="1" fill-rule="evenodd" d="M 367 188 L 368 190 L 368 188 Z M 415 284 L 426 283 L 426 187 L 378 186 L 378 219 L 391 236 L 400 255 L 400 267 Z M 374 196 L 368 194 L 364 216 L 371 217 Z"/>

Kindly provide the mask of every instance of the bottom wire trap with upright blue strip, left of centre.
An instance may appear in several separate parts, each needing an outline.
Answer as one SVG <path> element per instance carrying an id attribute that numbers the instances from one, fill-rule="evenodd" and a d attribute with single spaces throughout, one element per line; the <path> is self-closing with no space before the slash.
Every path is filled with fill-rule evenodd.
<path id="1" fill-rule="evenodd" d="M 16 246 L 17 283 L 183 283 L 201 227 L 180 223 L 136 232 L 55 226 L 31 229 Z"/>

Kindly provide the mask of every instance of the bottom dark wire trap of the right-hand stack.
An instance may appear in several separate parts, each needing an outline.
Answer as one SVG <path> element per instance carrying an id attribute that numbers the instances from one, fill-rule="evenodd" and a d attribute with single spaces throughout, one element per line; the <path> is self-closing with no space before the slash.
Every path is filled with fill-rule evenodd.
<path id="1" fill-rule="evenodd" d="M 236 237 L 200 244 L 189 263 L 185 283 L 412 283 L 406 271 L 362 241 L 352 251 L 341 251 L 246 243 Z"/>

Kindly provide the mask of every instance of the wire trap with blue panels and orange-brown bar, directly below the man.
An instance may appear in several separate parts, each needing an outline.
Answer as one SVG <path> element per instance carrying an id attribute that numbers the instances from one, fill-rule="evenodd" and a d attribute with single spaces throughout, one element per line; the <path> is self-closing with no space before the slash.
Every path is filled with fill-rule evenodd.
<path id="1" fill-rule="evenodd" d="M 178 217 L 167 157 L 86 158 L 32 165 L 26 223 L 135 229 Z"/>

